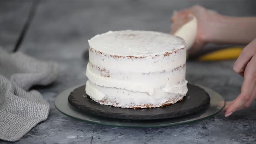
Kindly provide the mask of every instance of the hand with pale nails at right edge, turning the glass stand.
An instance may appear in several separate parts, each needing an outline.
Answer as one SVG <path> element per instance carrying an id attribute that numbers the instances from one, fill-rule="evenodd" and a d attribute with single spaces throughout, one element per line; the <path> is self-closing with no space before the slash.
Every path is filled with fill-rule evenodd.
<path id="1" fill-rule="evenodd" d="M 226 102 L 225 117 L 251 105 L 256 99 L 256 39 L 247 45 L 236 60 L 233 69 L 244 77 L 240 95 Z"/>

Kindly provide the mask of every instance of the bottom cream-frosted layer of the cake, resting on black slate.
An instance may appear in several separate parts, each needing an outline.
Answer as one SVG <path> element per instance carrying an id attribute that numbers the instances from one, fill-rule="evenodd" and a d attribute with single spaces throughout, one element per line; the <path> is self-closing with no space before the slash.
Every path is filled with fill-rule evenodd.
<path id="1" fill-rule="evenodd" d="M 96 102 L 121 108 L 156 108 L 174 104 L 184 95 L 166 93 L 161 89 L 153 95 L 144 92 L 131 92 L 125 89 L 107 88 L 86 82 L 86 93 Z M 92 95 L 92 96 L 91 96 Z"/>

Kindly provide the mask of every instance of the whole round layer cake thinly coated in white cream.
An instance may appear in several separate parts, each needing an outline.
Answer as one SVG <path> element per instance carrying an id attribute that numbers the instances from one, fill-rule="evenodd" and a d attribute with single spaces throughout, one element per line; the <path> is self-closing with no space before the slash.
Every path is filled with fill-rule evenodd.
<path id="1" fill-rule="evenodd" d="M 109 31 L 92 37 L 85 92 L 102 104 L 156 108 L 187 93 L 186 44 L 153 31 Z"/>

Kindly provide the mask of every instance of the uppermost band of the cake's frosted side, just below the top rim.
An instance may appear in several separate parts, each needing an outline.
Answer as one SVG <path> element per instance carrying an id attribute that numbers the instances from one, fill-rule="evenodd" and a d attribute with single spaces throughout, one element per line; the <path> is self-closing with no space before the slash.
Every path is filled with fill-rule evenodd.
<path id="1" fill-rule="evenodd" d="M 143 56 L 114 56 L 90 48 L 89 61 L 92 65 L 116 72 L 161 72 L 175 69 L 186 63 L 186 49 L 174 49 L 158 54 Z"/>

